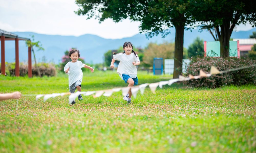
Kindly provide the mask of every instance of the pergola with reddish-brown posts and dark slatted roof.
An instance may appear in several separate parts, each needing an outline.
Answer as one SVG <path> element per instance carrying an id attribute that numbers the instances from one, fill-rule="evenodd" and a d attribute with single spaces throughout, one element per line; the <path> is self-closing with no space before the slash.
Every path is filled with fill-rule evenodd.
<path id="1" fill-rule="evenodd" d="M 10 33 L 0 29 L 1 37 L 1 71 L 5 75 L 5 41 L 15 40 L 15 76 L 19 77 L 19 40 L 28 40 L 29 38 L 19 37 L 14 33 Z M 32 60 L 31 60 L 31 47 L 28 47 L 28 77 L 32 77 Z"/>

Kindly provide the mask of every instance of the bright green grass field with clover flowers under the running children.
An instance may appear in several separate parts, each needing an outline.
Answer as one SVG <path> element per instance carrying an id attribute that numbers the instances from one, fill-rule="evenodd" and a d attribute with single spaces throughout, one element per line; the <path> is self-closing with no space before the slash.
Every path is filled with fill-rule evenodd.
<path id="1" fill-rule="evenodd" d="M 172 76 L 138 73 L 139 84 Z M 84 73 L 82 91 L 127 86 L 116 72 Z M 68 92 L 68 76 L 0 76 L 0 93 Z M 256 86 L 191 89 L 147 87 L 129 105 L 110 97 L 68 96 L 0 102 L 0 152 L 255 152 Z M 17 105 L 18 102 L 18 105 Z M 17 110 L 16 110 L 17 108 Z"/>

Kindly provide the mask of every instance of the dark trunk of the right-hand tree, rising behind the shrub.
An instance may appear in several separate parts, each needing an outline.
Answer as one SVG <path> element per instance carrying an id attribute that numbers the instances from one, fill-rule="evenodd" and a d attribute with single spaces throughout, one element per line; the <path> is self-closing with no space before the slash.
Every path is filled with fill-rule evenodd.
<path id="1" fill-rule="evenodd" d="M 223 20 L 220 25 L 220 57 L 229 57 L 230 21 Z"/>

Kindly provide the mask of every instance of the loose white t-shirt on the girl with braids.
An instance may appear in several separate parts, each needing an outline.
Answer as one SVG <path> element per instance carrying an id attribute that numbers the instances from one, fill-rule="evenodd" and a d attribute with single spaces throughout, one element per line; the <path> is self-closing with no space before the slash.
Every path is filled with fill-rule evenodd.
<path id="1" fill-rule="evenodd" d="M 132 78 L 137 77 L 137 68 L 135 65 L 132 64 L 132 62 L 139 62 L 139 57 L 136 57 L 133 53 L 130 55 L 126 55 L 125 53 L 119 53 L 116 55 L 113 55 L 114 60 L 119 60 L 120 63 L 117 68 L 117 73 L 119 76 L 123 79 L 122 74 L 127 74 Z"/>

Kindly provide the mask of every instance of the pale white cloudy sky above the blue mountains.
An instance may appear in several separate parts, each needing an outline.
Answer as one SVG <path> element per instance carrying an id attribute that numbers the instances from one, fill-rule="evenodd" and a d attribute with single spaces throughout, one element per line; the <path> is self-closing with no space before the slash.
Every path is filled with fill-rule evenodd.
<path id="1" fill-rule="evenodd" d="M 74 0 L 0 0 L 0 29 L 8 32 L 35 32 L 49 35 L 94 34 L 105 39 L 121 39 L 138 34 L 140 22 L 125 19 L 115 23 L 107 19 L 86 20 L 74 11 Z M 250 24 L 239 25 L 236 31 L 252 29 Z"/>

